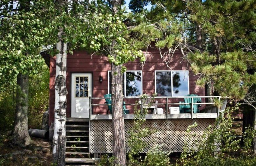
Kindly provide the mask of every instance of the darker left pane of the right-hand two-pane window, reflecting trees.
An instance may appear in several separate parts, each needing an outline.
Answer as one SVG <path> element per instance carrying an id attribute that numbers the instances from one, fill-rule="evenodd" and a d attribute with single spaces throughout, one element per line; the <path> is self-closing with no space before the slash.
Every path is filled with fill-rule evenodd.
<path id="1" fill-rule="evenodd" d="M 156 93 L 158 96 L 172 96 L 171 75 L 171 72 L 156 72 Z"/>

